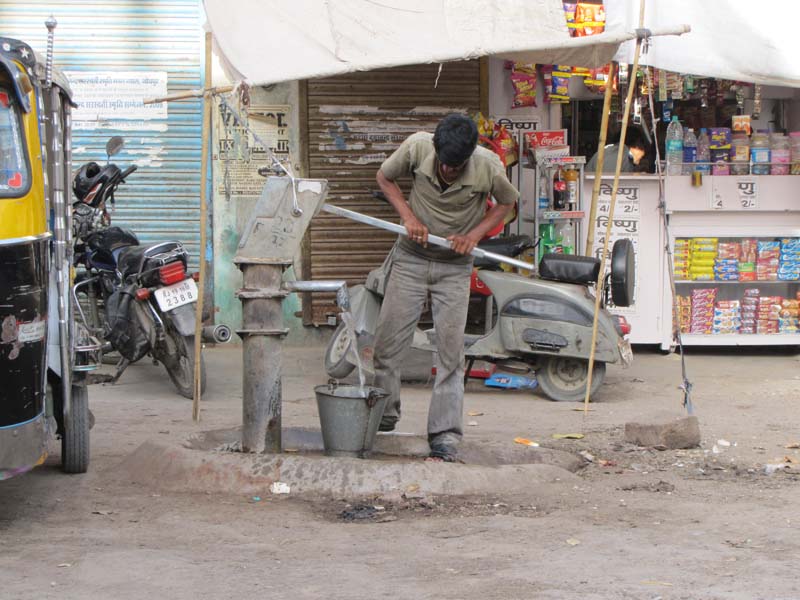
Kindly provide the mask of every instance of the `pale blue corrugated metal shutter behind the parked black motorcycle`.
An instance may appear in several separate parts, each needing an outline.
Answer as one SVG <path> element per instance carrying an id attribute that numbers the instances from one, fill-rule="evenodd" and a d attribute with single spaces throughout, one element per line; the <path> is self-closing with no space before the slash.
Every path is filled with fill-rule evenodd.
<path id="1" fill-rule="evenodd" d="M 169 93 L 202 87 L 200 0 L 4 0 L 0 31 L 26 41 L 42 55 L 49 15 L 58 21 L 55 63 L 64 71 L 166 71 Z M 105 162 L 105 143 L 125 138 L 114 157 L 139 170 L 119 188 L 115 225 L 145 243 L 178 239 L 193 266 L 199 263 L 200 128 L 202 103 L 170 103 L 166 120 L 150 129 L 105 125 L 73 132 L 73 167 Z M 162 131 L 153 131 L 161 125 Z"/>

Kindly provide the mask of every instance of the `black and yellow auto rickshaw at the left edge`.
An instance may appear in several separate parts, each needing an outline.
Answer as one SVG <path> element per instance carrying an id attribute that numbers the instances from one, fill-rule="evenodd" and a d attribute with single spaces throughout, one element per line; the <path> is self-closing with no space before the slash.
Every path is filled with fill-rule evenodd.
<path id="1" fill-rule="evenodd" d="M 67 473 L 89 465 L 87 372 L 99 345 L 73 319 L 66 78 L 0 37 L 0 480 L 44 462 L 61 439 Z"/>

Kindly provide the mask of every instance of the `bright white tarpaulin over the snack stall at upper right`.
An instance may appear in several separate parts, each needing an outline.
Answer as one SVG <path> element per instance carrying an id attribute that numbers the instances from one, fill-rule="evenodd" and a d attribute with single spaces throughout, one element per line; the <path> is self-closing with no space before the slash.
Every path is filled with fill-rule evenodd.
<path id="1" fill-rule="evenodd" d="M 767 85 L 800 87 L 800 35 L 791 26 L 797 0 L 646 0 L 645 25 L 687 23 L 680 37 L 653 40 L 640 62 L 668 71 Z M 631 29 L 639 2 L 605 0 L 607 29 Z M 633 62 L 626 43 L 615 60 Z"/>

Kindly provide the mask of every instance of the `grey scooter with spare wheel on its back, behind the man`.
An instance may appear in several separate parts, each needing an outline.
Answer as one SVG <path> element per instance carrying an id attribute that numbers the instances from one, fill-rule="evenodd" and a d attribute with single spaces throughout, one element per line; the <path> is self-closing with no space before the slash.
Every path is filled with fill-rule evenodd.
<path id="1" fill-rule="evenodd" d="M 489 240 L 479 247 L 504 250 L 502 241 Z M 341 379 L 355 367 L 354 352 L 369 365 L 374 352 L 374 336 L 380 305 L 386 289 L 391 254 L 383 265 L 367 276 L 364 285 L 350 292 L 350 307 L 356 344 L 343 322 L 332 336 L 326 353 L 328 375 Z M 603 278 L 601 309 L 598 315 L 597 346 L 592 372 L 591 394 L 603 383 L 607 364 L 631 364 L 630 326 L 624 317 L 612 315 L 609 300 L 617 307 L 633 301 L 635 281 L 634 250 L 630 240 L 618 240 L 611 252 L 611 272 Z M 465 335 L 464 354 L 469 375 L 477 360 L 497 367 L 536 374 L 539 387 L 551 400 L 581 401 L 589 376 L 588 360 L 592 341 L 595 296 L 600 260 L 594 257 L 545 254 L 537 277 L 481 269 L 477 278 L 491 291 L 495 311 L 488 311 L 486 332 Z M 436 331 L 417 328 L 412 347 L 436 351 Z"/>

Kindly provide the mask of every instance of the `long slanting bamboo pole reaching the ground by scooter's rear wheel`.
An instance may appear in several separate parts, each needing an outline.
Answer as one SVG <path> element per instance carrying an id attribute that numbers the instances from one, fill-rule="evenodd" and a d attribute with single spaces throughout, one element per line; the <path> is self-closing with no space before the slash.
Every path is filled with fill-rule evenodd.
<path id="1" fill-rule="evenodd" d="M 639 2 L 639 27 L 644 27 L 644 3 Z M 628 78 L 628 93 L 625 97 L 625 110 L 622 112 L 622 130 L 619 136 L 619 149 L 617 150 L 617 166 L 614 170 L 614 184 L 611 187 L 611 201 L 608 206 L 608 222 L 606 223 L 605 239 L 603 240 L 603 253 L 600 256 L 600 272 L 597 275 L 597 288 L 594 298 L 594 319 L 592 320 L 592 343 L 589 347 L 589 364 L 586 379 L 586 395 L 583 399 L 583 417 L 589 414 L 589 397 L 592 393 L 592 371 L 594 370 L 594 358 L 597 350 L 597 319 L 600 316 L 600 300 L 603 297 L 603 280 L 606 276 L 606 263 L 608 255 L 608 239 L 611 237 L 611 225 L 614 221 L 614 208 L 617 205 L 617 189 L 619 188 L 619 173 L 622 170 L 622 160 L 625 158 L 625 135 L 628 133 L 628 119 L 631 114 L 631 104 L 633 104 L 633 90 L 636 88 L 636 72 L 639 70 L 639 54 L 642 50 L 642 41 L 645 36 L 640 35 L 636 38 L 636 50 L 633 53 L 633 69 Z M 592 227 L 592 223 L 589 223 Z"/>

